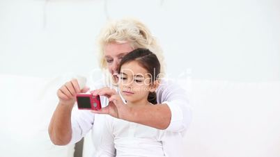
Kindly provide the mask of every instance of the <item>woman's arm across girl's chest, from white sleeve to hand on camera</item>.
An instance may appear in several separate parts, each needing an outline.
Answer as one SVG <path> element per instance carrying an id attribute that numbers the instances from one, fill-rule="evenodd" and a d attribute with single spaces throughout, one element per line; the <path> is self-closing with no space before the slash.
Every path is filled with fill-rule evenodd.
<path id="1" fill-rule="evenodd" d="M 95 90 L 93 94 L 107 96 L 111 105 L 94 113 L 109 114 L 119 119 L 135 122 L 156 129 L 183 131 L 191 121 L 191 108 L 185 90 L 172 82 L 165 82 L 157 89 L 157 100 L 162 104 L 130 108 L 125 106 L 116 91 L 109 88 Z M 116 101 L 117 100 L 117 101 Z"/>

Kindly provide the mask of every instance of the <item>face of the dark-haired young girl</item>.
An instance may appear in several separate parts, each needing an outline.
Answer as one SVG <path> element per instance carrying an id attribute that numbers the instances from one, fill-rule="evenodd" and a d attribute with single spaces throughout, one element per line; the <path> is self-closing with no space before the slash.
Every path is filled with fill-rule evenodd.
<path id="1" fill-rule="evenodd" d="M 125 63 L 120 68 L 120 93 L 127 102 L 147 101 L 149 92 L 155 88 L 150 84 L 150 74 L 135 60 Z"/>

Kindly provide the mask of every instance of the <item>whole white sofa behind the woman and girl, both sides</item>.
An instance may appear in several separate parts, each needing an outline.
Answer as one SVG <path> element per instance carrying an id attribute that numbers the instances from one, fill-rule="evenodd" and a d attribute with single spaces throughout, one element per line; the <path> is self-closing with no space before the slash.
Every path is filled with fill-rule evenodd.
<path id="1" fill-rule="evenodd" d="M 47 126 L 56 90 L 70 76 L 33 78 L 0 75 L 0 156 L 72 157 L 75 145 L 55 146 Z M 192 124 L 187 157 L 279 157 L 280 83 L 179 80 L 189 92 Z M 83 156 L 91 156 L 91 134 Z"/>

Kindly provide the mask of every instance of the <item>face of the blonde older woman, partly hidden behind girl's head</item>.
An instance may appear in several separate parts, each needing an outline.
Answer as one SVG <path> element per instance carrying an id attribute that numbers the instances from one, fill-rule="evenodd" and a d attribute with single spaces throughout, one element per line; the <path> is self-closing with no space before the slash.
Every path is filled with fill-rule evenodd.
<path id="1" fill-rule="evenodd" d="M 132 50 L 129 42 L 124 44 L 111 43 L 104 47 L 104 58 L 107 62 L 107 68 L 113 76 L 117 76 L 118 74 L 120 60 Z"/>

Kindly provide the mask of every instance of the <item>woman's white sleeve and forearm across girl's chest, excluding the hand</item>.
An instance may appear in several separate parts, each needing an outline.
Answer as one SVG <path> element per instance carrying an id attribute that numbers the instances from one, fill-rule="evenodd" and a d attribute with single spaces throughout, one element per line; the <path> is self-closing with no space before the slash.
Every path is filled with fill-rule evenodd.
<path id="1" fill-rule="evenodd" d="M 163 80 L 157 88 L 157 102 L 160 104 L 133 108 L 128 121 L 173 132 L 187 129 L 192 119 L 192 108 L 187 92 L 180 85 Z"/>

